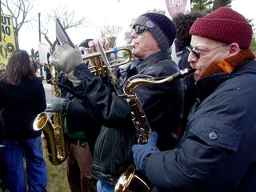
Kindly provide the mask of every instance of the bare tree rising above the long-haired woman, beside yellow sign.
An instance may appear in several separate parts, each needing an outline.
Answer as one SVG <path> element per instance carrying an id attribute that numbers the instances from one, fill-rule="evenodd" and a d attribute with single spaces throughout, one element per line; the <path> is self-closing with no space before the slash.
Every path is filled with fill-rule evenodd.
<path id="1" fill-rule="evenodd" d="M 35 0 L 2 0 L 2 13 L 9 14 L 14 22 L 14 37 L 17 49 L 19 49 L 18 32 L 22 26 L 31 22 L 33 19 L 28 18 L 28 13 L 32 10 Z M 4 13 L 6 10 L 6 13 Z"/>

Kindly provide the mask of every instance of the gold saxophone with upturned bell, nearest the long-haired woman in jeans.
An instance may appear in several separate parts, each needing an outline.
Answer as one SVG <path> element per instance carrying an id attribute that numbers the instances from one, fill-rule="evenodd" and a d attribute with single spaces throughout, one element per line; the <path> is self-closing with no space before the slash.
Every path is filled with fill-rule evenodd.
<path id="1" fill-rule="evenodd" d="M 58 87 L 58 74 L 56 71 L 54 74 L 55 77 L 51 79 L 54 86 L 53 94 L 55 97 L 60 97 L 61 91 Z M 48 160 L 54 166 L 62 164 L 68 155 L 62 114 L 54 112 L 50 116 L 50 114 L 42 112 L 34 119 L 33 128 L 34 130 L 42 130 L 42 141 Z"/>

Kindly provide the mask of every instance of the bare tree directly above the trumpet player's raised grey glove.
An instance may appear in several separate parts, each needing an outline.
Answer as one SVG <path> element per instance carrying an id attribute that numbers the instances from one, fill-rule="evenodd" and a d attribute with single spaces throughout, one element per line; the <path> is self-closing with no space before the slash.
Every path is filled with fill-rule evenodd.
<path id="1" fill-rule="evenodd" d="M 78 18 L 78 20 L 76 20 L 74 16 L 74 10 L 66 10 L 63 7 L 58 7 L 57 9 L 50 10 L 49 14 L 47 14 L 46 16 L 46 20 L 47 22 L 49 22 L 51 19 L 58 18 L 60 22 L 62 22 L 62 26 L 65 30 L 80 26 L 86 26 L 85 16 L 82 16 L 82 18 Z M 48 29 L 46 27 L 42 27 L 41 34 L 45 38 L 46 42 L 48 42 L 48 44 L 50 45 L 51 51 L 53 52 L 55 50 L 55 46 L 57 45 L 57 40 L 55 39 L 54 42 L 50 40 L 48 36 Z"/>

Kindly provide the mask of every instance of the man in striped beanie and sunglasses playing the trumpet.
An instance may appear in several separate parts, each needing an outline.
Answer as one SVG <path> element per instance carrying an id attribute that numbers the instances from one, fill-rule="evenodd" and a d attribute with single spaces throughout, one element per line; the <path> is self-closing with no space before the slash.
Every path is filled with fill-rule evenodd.
<path id="1" fill-rule="evenodd" d="M 98 191 L 114 191 L 114 186 L 126 168 L 133 163 L 131 146 L 138 142 L 132 119 L 132 108 L 123 97 L 123 87 L 128 78 L 146 74 L 154 78 L 166 78 L 179 71 L 171 60 L 170 46 L 174 42 L 176 26 L 163 14 L 147 13 L 138 17 L 131 30 L 132 53 L 138 59 L 128 65 L 126 76 L 116 85 L 117 92 L 103 84 L 78 58 L 78 50 L 63 45 L 55 50 L 51 65 L 66 74 L 74 74 L 75 81 L 81 81 L 83 106 L 102 123 L 102 129 L 95 143 L 94 162 L 91 175 L 98 179 Z M 60 56 L 60 51 L 65 49 Z M 73 67 L 72 67 L 73 66 Z M 70 77 L 71 78 L 71 77 Z M 159 134 L 158 147 L 167 150 L 174 147 L 175 131 L 182 114 L 182 82 L 139 86 L 134 90 L 142 103 L 147 122 Z M 141 114 L 135 114 L 141 118 Z"/>

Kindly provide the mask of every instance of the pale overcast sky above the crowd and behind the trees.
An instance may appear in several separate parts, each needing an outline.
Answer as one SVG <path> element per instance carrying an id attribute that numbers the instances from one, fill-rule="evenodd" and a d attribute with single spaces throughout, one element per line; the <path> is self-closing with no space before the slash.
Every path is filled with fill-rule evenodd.
<path id="1" fill-rule="evenodd" d="M 70 5 L 72 2 L 72 5 Z M 256 25 L 256 12 L 253 6 L 254 0 L 233 0 L 232 8 L 243 14 L 246 18 L 254 19 Z M 69 29 L 66 32 L 74 44 L 82 42 L 86 38 L 98 38 L 96 26 L 122 26 L 122 32 L 118 37 L 118 46 L 124 46 L 123 34 L 130 30 L 130 22 L 137 18 L 140 14 L 147 10 L 157 8 L 166 10 L 166 15 L 170 17 L 166 9 L 165 0 L 38 0 L 34 5 L 33 11 L 30 12 L 30 17 L 38 20 L 38 13 L 41 13 L 42 27 L 47 27 L 50 34 L 50 39 L 54 41 L 55 25 L 54 21 L 46 23 L 46 14 L 53 8 L 60 6 L 64 9 L 75 10 L 76 17 L 86 17 L 86 27 Z M 22 26 L 19 33 L 20 49 L 30 51 L 31 48 L 38 50 L 39 34 L 38 22 L 31 25 Z M 42 37 L 42 42 L 45 40 Z"/>

